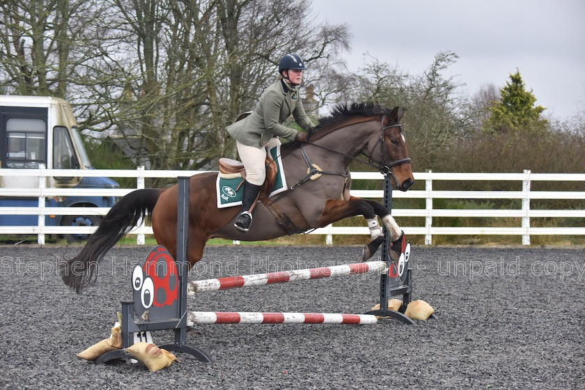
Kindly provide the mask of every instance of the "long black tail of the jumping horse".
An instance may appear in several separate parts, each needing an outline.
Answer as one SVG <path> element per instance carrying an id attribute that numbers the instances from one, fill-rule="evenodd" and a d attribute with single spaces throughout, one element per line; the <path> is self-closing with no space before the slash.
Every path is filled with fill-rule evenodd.
<path id="1" fill-rule="evenodd" d="M 97 279 L 98 263 L 126 233 L 146 214 L 153 212 L 163 189 L 137 189 L 121 198 L 109 210 L 102 223 L 89 236 L 84 249 L 71 260 L 62 263 L 61 279 L 77 293 Z"/>

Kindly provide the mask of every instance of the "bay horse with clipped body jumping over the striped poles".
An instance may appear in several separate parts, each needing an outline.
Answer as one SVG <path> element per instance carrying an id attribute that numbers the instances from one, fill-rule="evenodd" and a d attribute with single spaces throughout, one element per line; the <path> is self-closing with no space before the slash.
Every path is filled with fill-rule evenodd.
<path id="1" fill-rule="evenodd" d="M 233 226 L 240 207 L 217 208 L 218 173 L 192 176 L 189 180 L 189 265 L 192 267 L 201 260 L 205 243 L 212 237 L 270 240 L 357 215 L 363 215 L 370 227 L 370 244 L 364 248 L 362 260 L 373 256 L 383 241 L 376 216 L 389 228 L 391 240 L 398 240 L 402 231 L 387 208 L 376 201 L 350 195 L 348 166 L 359 155 L 366 155 L 366 164 L 390 175 L 392 186 L 406 191 L 414 183 L 414 177 L 400 125 L 403 114 L 404 109 L 400 107 L 338 104 L 330 116 L 320 119 L 304 143 L 284 144 L 283 170 L 286 180 L 296 184 L 286 192 L 270 199 L 264 196 L 264 201 L 256 203 L 254 223 L 247 233 Z M 178 185 L 168 189 L 137 189 L 120 198 L 81 252 L 61 265 L 65 284 L 80 292 L 93 283 L 98 262 L 147 212 L 155 239 L 176 257 L 177 205 Z"/>

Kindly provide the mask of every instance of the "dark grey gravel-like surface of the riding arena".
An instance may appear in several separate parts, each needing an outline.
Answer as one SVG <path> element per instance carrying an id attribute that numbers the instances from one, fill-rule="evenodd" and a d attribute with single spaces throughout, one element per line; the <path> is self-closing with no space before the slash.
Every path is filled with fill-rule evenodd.
<path id="1" fill-rule="evenodd" d="M 214 358 L 157 373 L 76 353 L 109 336 L 132 266 L 150 248 L 109 251 L 98 283 L 67 290 L 56 263 L 79 248 L 0 247 L 4 389 L 585 389 L 585 251 L 414 247 L 414 299 L 437 319 L 407 326 L 199 325 Z M 350 263 L 359 247 L 209 247 L 190 279 Z M 199 311 L 364 313 L 377 276 L 341 276 L 189 298 Z M 171 331 L 153 334 L 172 341 Z"/>

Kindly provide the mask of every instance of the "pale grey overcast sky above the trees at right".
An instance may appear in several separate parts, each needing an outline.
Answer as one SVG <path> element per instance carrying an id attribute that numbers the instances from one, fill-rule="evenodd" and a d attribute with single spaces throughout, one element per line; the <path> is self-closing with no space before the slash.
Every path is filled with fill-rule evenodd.
<path id="1" fill-rule="evenodd" d="M 419 75 L 451 51 L 459 59 L 446 76 L 469 94 L 501 88 L 518 68 L 544 114 L 585 111 L 584 0 L 313 0 L 313 13 L 350 26 L 351 70 L 367 52 Z"/>

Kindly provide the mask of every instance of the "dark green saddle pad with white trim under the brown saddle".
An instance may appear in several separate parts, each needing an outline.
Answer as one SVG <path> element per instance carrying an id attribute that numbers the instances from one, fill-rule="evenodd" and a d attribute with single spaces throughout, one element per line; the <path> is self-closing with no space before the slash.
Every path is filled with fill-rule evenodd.
<path id="1" fill-rule="evenodd" d="M 280 194 L 288 189 L 286 187 L 284 169 L 282 168 L 280 148 L 281 146 L 278 145 L 268 151 L 270 157 L 276 161 L 276 178 L 274 178 L 274 187 L 272 187 L 270 196 Z M 221 173 L 217 174 L 217 180 L 215 181 L 217 208 L 228 208 L 242 205 L 243 186 L 240 186 L 241 182 L 242 176 L 233 178 L 232 176 L 223 177 Z M 238 186 L 240 186 L 239 189 L 237 189 Z"/>

